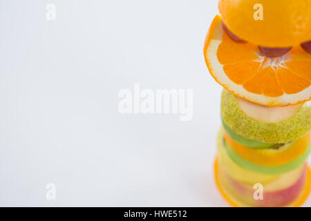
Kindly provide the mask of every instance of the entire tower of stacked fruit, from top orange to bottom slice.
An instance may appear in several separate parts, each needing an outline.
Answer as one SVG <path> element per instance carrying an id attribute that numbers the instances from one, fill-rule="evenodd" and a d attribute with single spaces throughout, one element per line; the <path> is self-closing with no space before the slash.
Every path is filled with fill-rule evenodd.
<path id="1" fill-rule="evenodd" d="M 252 14 L 258 3 L 263 21 Z M 222 18 L 212 21 L 204 46 L 209 72 L 225 88 L 218 189 L 234 206 L 300 206 L 311 189 L 311 4 L 218 6 Z"/>

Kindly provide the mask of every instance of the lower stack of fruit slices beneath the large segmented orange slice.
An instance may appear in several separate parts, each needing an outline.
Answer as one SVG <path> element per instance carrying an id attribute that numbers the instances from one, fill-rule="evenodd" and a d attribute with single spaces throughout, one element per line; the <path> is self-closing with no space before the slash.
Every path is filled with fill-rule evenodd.
<path id="1" fill-rule="evenodd" d="M 264 107 L 223 90 L 216 180 L 229 202 L 297 206 L 305 200 L 311 187 L 308 103 Z M 255 184 L 262 185 L 262 198 L 254 197 Z"/>

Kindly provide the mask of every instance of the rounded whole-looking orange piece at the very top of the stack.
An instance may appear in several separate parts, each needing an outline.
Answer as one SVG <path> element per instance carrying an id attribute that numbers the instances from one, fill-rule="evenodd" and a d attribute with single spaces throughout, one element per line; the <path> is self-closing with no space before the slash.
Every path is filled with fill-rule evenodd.
<path id="1" fill-rule="evenodd" d="M 284 48 L 311 39 L 310 1 L 220 0 L 218 8 L 227 28 L 252 44 Z"/>

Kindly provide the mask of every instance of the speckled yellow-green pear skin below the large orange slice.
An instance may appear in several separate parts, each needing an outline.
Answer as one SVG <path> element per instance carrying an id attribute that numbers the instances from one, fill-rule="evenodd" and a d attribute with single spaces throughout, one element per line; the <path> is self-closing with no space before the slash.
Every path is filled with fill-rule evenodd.
<path id="1" fill-rule="evenodd" d="M 223 122 L 238 135 L 269 144 L 285 144 L 303 137 L 311 129 L 311 106 L 305 103 L 289 119 L 281 122 L 260 122 L 246 115 L 232 93 L 223 90 L 221 96 Z"/>

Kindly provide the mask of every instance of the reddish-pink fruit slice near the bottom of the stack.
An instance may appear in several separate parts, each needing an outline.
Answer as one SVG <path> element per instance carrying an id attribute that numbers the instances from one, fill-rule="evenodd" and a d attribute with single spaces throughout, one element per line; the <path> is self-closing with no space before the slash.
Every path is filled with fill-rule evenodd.
<path id="1" fill-rule="evenodd" d="M 254 189 L 249 188 L 249 186 L 245 186 L 236 180 L 233 180 L 229 175 L 224 174 L 226 179 L 231 184 L 232 188 L 236 191 L 236 193 L 240 196 L 241 199 L 247 201 L 247 204 L 251 204 L 252 206 L 260 206 L 260 207 L 276 207 L 276 206 L 287 206 L 290 204 L 299 193 L 303 189 L 303 184 L 305 183 L 305 177 L 307 175 L 307 166 L 303 170 L 301 177 L 299 180 L 292 186 L 289 186 L 287 189 L 282 189 L 280 191 L 270 191 L 265 192 L 263 187 L 263 200 L 254 200 L 253 194 Z"/>

